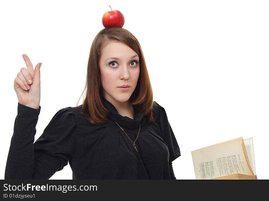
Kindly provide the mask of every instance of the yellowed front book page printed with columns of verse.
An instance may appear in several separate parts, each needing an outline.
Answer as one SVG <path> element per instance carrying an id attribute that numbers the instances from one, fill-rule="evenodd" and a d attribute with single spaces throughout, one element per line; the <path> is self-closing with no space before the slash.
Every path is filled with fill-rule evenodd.
<path id="1" fill-rule="evenodd" d="M 191 151 L 196 179 L 240 173 L 253 175 L 243 151 L 243 137 Z"/>

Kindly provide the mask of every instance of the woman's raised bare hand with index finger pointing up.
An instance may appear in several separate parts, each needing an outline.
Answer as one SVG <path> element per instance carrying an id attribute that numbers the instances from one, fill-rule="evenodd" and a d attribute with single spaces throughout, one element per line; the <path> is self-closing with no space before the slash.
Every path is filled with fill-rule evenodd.
<path id="1" fill-rule="evenodd" d="M 29 57 L 26 54 L 23 54 L 22 57 L 27 69 L 20 69 L 14 80 L 14 90 L 20 104 L 38 109 L 40 104 L 40 66 L 42 63 L 39 62 L 34 69 Z"/>

